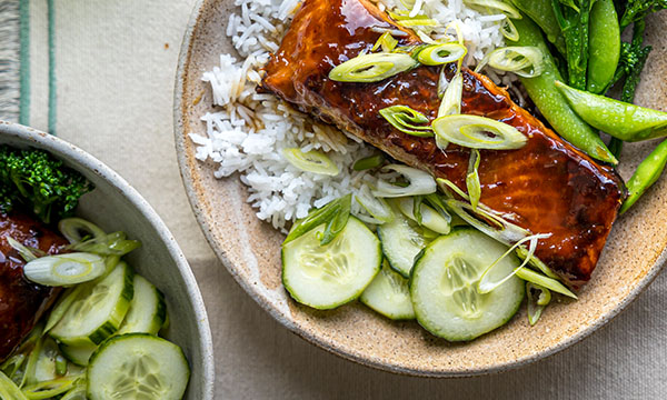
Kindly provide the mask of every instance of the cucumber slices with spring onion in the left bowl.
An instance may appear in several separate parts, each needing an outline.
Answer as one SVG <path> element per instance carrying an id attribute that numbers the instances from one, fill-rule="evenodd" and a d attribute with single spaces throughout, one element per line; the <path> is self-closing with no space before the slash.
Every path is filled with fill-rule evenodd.
<path id="1" fill-rule="evenodd" d="M 160 337 L 165 296 L 123 260 L 140 243 L 79 218 L 58 228 L 70 244 L 57 256 L 8 239 L 28 280 L 62 292 L 0 364 L 0 399 L 181 399 L 190 368 Z"/>

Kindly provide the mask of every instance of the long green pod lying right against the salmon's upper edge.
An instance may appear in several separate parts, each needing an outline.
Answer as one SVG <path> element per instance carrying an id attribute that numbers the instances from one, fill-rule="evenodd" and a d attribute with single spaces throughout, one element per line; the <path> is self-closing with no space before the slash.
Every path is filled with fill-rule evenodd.
<path id="1" fill-rule="evenodd" d="M 563 138 L 590 157 L 613 164 L 618 163 L 599 134 L 573 111 L 566 98 L 554 86 L 561 77 L 539 28 L 528 18 L 512 22 L 519 32 L 517 46 L 535 46 L 544 56 L 544 71 L 539 77 L 520 78 L 539 111 Z"/>

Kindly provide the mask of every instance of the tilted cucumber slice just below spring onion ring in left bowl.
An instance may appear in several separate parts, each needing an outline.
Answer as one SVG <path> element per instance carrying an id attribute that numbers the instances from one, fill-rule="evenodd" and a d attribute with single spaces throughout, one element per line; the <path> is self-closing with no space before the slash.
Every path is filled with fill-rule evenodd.
<path id="1" fill-rule="evenodd" d="M 128 312 L 133 297 L 132 269 L 118 263 L 104 279 L 86 283 L 50 334 L 69 346 L 99 344 L 113 334 Z"/>

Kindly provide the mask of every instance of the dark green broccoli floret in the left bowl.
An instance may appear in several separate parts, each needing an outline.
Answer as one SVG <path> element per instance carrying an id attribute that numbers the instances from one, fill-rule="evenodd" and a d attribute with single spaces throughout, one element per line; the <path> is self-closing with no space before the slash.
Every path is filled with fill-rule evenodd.
<path id="1" fill-rule="evenodd" d="M 49 223 L 70 214 L 92 184 L 42 150 L 0 146 L 0 211 L 26 207 Z"/>

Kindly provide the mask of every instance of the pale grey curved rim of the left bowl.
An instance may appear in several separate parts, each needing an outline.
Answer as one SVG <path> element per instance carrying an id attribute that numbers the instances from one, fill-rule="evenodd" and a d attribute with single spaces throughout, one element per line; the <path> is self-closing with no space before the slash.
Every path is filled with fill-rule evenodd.
<path id="1" fill-rule="evenodd" d="M 158 232 L 160 240 L 169 251 L 169 256 L 173 259 L 180 277 L 186 284 L 188 297 L 192 301 L 197 319 L 199 351 L 202 354 L 203 362 L 203 388 L 201 392 L 203 393 L 203 400 L 211 400 L 213 398 L 216 371 L 213 362 L 213 341 L 208 314 L 195 274 L 192 273 L 183 252 L 176 242 L 173 234 L 169 231 L 158 213 L 148 201 L 116 171 L 74 144 L 37 129 L 8 121 L 0 121 L 0 136 L 19 139 L 20 141 L 26 142 L 26 144 L 37 143 L 40 148 L 53 153 L 59 159 L 66 161 L 68 159 L 72 160 L 90 171 L 93 171 L 97 176 L 103 177 L 104 180 L 117 188 L 120 194 L 139 210 L 156 232 Z"/>

